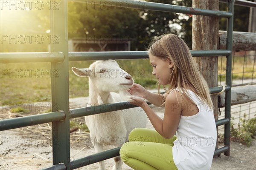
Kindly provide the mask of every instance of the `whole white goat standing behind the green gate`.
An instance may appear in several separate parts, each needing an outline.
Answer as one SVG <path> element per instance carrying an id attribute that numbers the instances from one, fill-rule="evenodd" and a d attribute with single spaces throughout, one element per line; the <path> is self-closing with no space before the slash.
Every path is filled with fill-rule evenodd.
<path id="1" fill-rule="evenodd" d="M 89 103 L 87 106 L 109 104 L 124 101 L 119 94 L 127 94 L 134 80 L 131 75 L 121 69 L 116 61 L 96 61 L 88 69 L 72 71 L 81 77 L 89 77 Z M 129 93 L 128 93 L 129 94 Z M 97 107 L 99 109 L 99 107 Z M 103 108 L 100 108 L 103 109 Z M 103 145 L 120 147 L 128 141 L 128 135 L 136 127 L 146 127 L 146 114 L 141 108 L 131 108 L 96 115 L 85 116 L 90 130 L 90 139 L 96 153 L 103 151 Z M 120 170 L 120 156 L 114 158 L 113 169 Z M 99 169 L 105 169 L 104 162 L 99 162 Z"/>

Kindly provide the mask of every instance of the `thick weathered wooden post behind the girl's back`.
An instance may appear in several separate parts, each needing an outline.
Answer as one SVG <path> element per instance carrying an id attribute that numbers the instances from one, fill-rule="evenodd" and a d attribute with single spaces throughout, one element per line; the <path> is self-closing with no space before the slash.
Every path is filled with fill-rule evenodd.
<path id="1" fill-rule="evenodd" d="M 219 0 L 193 0 L 193 8 L 219 9 Z M 192 19 L 192 50 L 218 49 L 218 17 L 193 15 Z M 196 57 L 195 61 L 201 75 L 209 87 L 218 86 L 218 56 Z M 215 121 L 218 120 L 218 95 L 212 95 Z M 218 128 L 217 128 L 218 132 Z M 216 142 L 218 148 L 218 138 Z"/>

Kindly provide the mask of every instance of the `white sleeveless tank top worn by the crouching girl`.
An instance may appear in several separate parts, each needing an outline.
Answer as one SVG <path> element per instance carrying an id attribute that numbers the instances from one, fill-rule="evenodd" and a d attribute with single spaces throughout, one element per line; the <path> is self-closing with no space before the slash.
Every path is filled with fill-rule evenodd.
<path id="1" fill-rule="evenodd" d="M 180 117 L 177 139 L 172 147 L 174 163 L 178 170 L 209 170 L 217 141 L 213 110 L 194 92 L 188 92 L 199 112 Z"/>

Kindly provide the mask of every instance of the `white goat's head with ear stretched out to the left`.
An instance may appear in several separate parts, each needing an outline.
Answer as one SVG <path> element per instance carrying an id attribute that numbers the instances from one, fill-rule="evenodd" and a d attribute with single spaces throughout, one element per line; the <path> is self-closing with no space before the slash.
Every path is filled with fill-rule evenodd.
<path id="1" fill-rule="evenodd" d="M 96 61 L 87 69 L 72 67 L 72 71 L 80 77 L 89 77 L 93 85 L 100 91 L 119 92 L 129 89 L 134 80 L 113 60 Z"/>

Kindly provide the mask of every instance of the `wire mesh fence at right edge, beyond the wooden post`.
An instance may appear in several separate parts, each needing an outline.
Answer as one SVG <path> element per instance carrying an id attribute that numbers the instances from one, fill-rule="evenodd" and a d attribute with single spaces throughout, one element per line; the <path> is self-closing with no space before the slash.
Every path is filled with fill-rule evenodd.
<path id="1" fill-rule="evenodd" d="M 218 58 L 218 83 L 225 84 L 225 56 Z M 232 87 L 256 84 L 256 51 L 233 52 L 232 60 Z M 256 90 L 256 89 L 255 89 Z M 242 119 L 248 120 L 256 116 L 256 101 L 231 106 L 231 118 L 234 127 L 241 123 Z M 219 119 L 224 118 L 224 108 L 220 108 Z M 219 126 L 220 133 L 224 132 L 224 126 Z"/>

